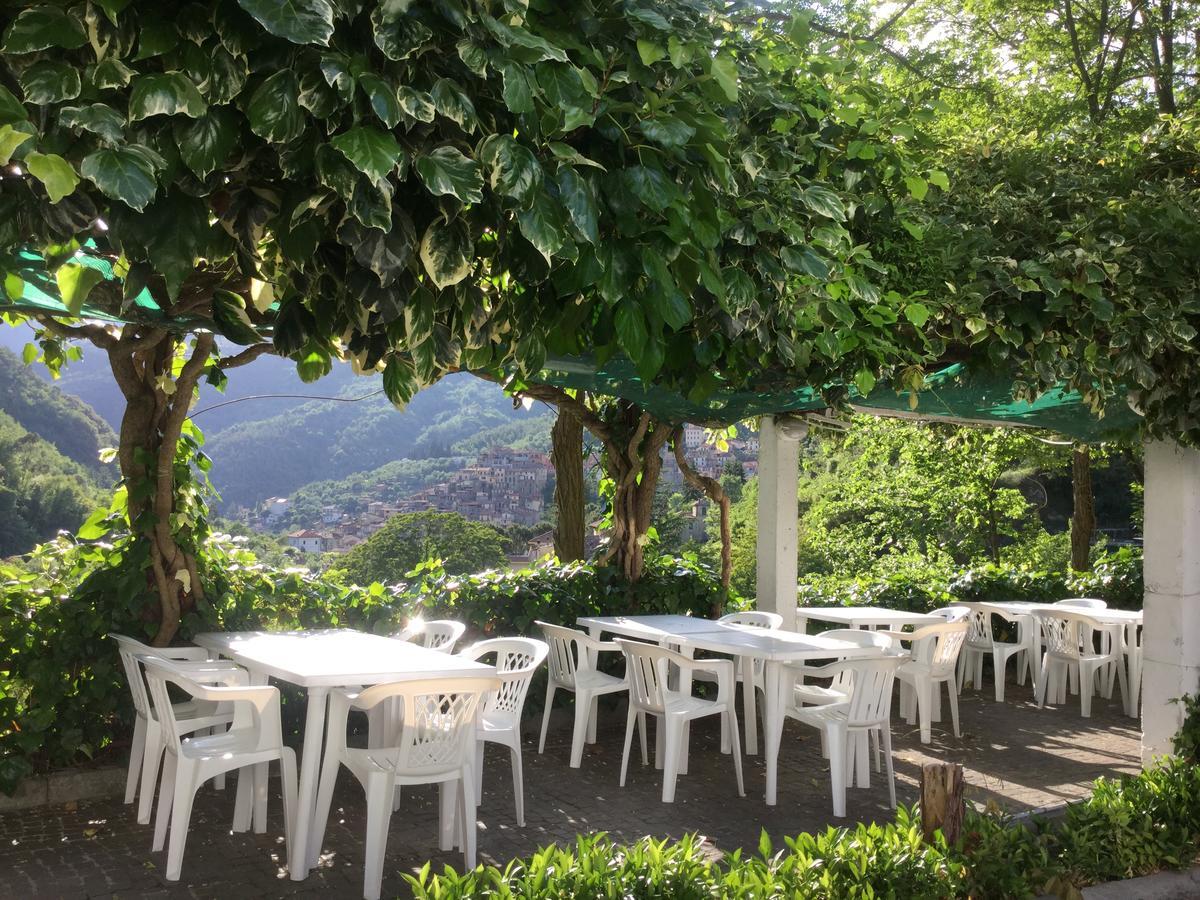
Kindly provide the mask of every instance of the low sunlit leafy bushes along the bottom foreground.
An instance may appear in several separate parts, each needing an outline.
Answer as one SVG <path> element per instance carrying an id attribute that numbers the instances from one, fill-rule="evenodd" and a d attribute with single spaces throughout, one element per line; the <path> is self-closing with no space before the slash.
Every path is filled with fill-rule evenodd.
<path id="1" fill-rule="evenodd" d="M 1024 826 L 995 812 L 968 811 L 961 838 L 925 842 L 913 810 L 883 824 L 800 834 L 773 851 L 713 860 L 701 839 L 643 838 L 618 845 L 581 835 L 503 869 L 468 872 L 428 864 L 406 876 L 418 900 L 458 898 L 1031 898 L 1105 880 L 1190 865 L 1200 852 L 1200 768 L 1159 763 L 1139 775 L 1100 779 L 1087 800 L 1056 823 Z"/>

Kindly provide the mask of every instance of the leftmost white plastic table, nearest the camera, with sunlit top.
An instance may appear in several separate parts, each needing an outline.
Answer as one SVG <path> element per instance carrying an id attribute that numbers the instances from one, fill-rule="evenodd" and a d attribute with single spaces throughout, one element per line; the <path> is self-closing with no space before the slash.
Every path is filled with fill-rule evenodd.
<path id="1" fill-rule="evenodd" d="M 320 854 L 320 847 L 311 847 L 308 842 L 313 834 L 317 775 L 325 743 L 325 702 L 330 689 L 496 674 L 493 666 L 361 631 L 212 631 L 197 635 L 196 643 L 245 666 L 256 684 L 277 678 L 308 692 L 295 832 L 288 846 L 293 881 L 308 877 L 308 870 L 317 865 Z"/>

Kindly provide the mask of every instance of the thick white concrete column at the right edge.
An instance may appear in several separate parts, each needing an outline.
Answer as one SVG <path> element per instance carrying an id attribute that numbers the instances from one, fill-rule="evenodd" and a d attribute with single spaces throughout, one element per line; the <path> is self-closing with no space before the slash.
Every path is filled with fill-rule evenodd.
<path id="1" fill-rule="evenodd" d="M 1200 688 L 1200 451 L 1146 442 L 1141 758 L 1171 751 L 1172 697 Z"/>

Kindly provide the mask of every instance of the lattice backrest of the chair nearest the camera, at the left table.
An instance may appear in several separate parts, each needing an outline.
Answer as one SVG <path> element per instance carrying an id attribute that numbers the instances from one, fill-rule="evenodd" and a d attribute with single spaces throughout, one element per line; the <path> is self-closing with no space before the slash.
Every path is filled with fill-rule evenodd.
<path id="1" fill-rule="evenodd" d="M 397 775 L 438 775 L 474 758 L 475 713 L 484 697 L 499 686 L 494 676 L 377 684 L 362 691 L 354 706 L 372 709 L 398 700 L 398 733 L 389 734 L 392 745 L 372 751 L 372 758 L 377 764 L 394 766 Z"/>

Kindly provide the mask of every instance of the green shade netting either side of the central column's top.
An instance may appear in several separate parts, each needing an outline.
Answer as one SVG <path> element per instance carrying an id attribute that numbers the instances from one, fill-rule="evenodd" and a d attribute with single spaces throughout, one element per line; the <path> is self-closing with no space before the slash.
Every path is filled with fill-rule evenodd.
<path id="1" fill-rule="evenodd" d="M 599 367 L 581 359 L 556 359 L 546 364 L 538 380 L 622 397 L 668 422 L 732 425 L 755 415 L 826 408 L 820 392 L 809 386 L 716 391 L 702 401 L 691 401 L 682 394 L 647 384 L 626 359 L 610 360 Z M 1123 397 L 1109 401 L 1103 415 L 1092 413 L 1078 391 L 1066 388 L 1046 391 L 1033 402 L 1016 401 L 1010 377 L 973 372 L 961 364 L 926 377 L 925 388 L 917 394 L 916 407 L 911 396 L 911 391 L 896 392 L 886 384 L 880 384 L 865 397 L 850 390 L 850 402 L 864 413 L 1045 428 L 1087 443 L 1128 438 L 1140 422 Z"/>

